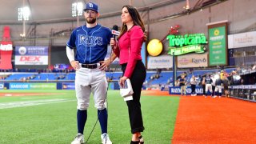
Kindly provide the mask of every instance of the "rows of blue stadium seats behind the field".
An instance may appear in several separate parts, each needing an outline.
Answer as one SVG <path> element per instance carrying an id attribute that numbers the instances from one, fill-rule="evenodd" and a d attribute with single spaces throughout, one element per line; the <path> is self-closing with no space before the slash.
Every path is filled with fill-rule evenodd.
<path id="1" fill-rule="evenodd" d="M 227 73 L 230 73 L 234 68 L 225 69 Z M 205 74 L 213 74 L 216 73 L 218 70 L 178 70 L 177 77 L 181 74 L 186 73 L 186 79 L 189 81 L 192 74 L 196 77 L 199 75 Z M 106 72 L 106 77 L 108 79 L 118 81 L 120 77 L 122 77 L 122 72 Z M 55 72 L 55 73 L 38 73 L 38 72 L 14 72 L 10 74 L 5 81 L 22 81 L 23 79 L 30 80 L 30 81 L 74 81 L 75 73 L 63 73 L 63 72 Z M 146 83 L 147 85 L 166 85 L 172 82 L 173 79 L 173 71 L 147 71 L 146 72 Z"/>

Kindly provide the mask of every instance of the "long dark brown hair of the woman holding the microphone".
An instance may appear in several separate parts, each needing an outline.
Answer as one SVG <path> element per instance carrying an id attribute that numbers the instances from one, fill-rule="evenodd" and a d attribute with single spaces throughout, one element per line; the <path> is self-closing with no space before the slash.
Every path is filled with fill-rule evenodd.
<path id="1" fill-rule="evenodd" d="M 133 6 L 122 6 L 122 9 L 126 7 L 128 10 L 130 17 L 132 18 L 134 22 L 134 26 L 141 26 L 143 32 L 145 31 L 145 26 L 144 23 L 142 22 L 142 18 L 138 13 L 138 10 L 134 8 Z M 125 23 L 122 23 L 122 29 L 121 29 L 121 34 L 118 36 L 118 38 L 122 37 L 122 34 L 124 34 L 127 31 L 127 26 Z"/>

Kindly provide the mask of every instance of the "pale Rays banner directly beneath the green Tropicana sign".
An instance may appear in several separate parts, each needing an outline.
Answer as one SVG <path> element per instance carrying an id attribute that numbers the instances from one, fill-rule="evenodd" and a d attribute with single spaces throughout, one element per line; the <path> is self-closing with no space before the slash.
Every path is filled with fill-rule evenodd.
<path id="1" fill-rule="evenodd" d="M 177 58 L 178 68 L 206 67 L 208 66 L 208 54 L 186 54 Z"/>

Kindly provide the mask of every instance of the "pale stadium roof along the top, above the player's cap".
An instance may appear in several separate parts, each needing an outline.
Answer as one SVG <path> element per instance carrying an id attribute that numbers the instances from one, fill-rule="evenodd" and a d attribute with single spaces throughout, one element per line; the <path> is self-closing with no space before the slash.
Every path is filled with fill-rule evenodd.
<path id="1" fill-rule="evenodd" d="M 137 8 L 154 8 L 154 6 L 168 5 L 186 0 L 78 0 L 78 2 L 95 2 L 101 14 L 121 12 L 122 6 L 130 3 Z M 0 0 L 0 22 L 18 22 L 18 8 L 22 7 L 23 0 Z M 71 5 L 77 0 L 24 0 L 30 7 L 30 21 L 40 22 L 66 19 L 71 17 Z"/>

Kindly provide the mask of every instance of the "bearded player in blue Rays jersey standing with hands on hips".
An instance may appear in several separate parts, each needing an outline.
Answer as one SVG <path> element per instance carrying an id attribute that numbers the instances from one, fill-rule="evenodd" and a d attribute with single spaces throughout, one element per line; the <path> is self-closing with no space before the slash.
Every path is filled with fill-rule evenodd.
<path id="1" fill-rule="evenodd" d="M 76 70 L 75 92 L 78 100 L 78 134 L 71 144 L 84 143 L 84 126 L 86 124 L 87 109 L 89 107 L 90 94 L 94 95 L 94 106 L 98 109 L 98 120 L 102 129 L 102 143 L 111 144 L 107 134 L 107 110 L 106 110 L 106 66 L 109 61 L 104 61 L 107 53 L 107 45 L 112 37 L 111 30 L 97 23 L 99 16 L 98 6 L 95 3 L 86 3 L 84 9 L 86 25 L 76 28 L 68 42 L 66 42 L 66 54 L 71 66 Z M 76 54 L 74 56 L 74 48 Z M 107 63 L 109 62 L 109 63 Z"/>

